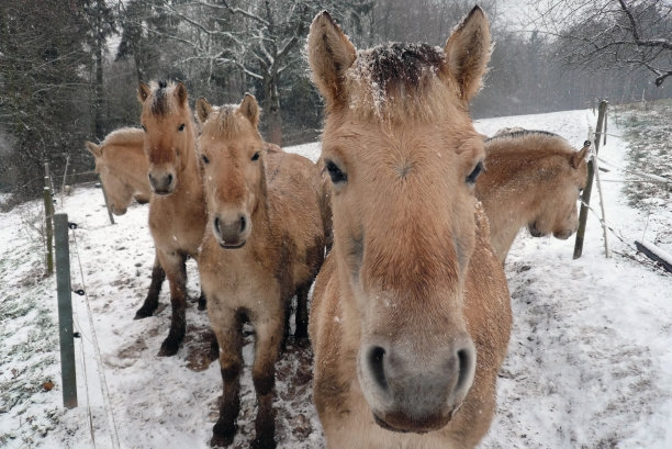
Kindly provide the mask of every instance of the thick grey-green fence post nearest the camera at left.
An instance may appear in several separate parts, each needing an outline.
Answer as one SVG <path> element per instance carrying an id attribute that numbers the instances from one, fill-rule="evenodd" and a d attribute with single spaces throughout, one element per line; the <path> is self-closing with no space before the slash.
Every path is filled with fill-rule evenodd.
<path id="1" fill-rule="evenodd" d="M 60 378 L 63 405 L 77 406 L 77 375 L 75 369 L 75 335 L 72 330 L 72 296 L 70 287 L 70 248 L 68 215 L 54 216 L 56 229 L 56 287 L 58 291 L 58 337 L 60 340 Z"/>

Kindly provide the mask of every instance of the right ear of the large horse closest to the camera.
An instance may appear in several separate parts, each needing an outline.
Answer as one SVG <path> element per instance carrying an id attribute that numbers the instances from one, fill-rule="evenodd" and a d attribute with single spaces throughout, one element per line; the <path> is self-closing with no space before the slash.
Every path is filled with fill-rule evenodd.
<path id="1" fill-rule="evenodd" d="M 474 7 L 455 27 L 445 50 L 448 71 L 460 88 L 461 99 L 469 101 L 481 88 L 490 60 L 490 24 L 481 8 Z"/>

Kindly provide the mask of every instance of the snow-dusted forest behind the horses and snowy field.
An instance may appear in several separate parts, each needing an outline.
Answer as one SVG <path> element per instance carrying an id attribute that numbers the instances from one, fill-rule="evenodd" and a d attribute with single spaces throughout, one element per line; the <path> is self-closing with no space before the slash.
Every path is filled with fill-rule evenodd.
<path id="1" fill-rule="evenodd" d="M 581 3 L 547 1 L 542 12 Z M 590 22 L 540 15 L 556 29 L 542 21 L 513 25 L 512 3 L 480 2 L 495 45 L 474 117 L 591 108 L 597 98 L 672 97 L 672 82 L 662 82 L 668 75 L 658 69 L 672 68 L 671 7 L 663 0 L 587 2 L 605 5 Z M 249 91 L 264 108 L 266 139 L 315 141 L 323 105 L 303 47 L 318 11 L 332 12 L 366 48 L 388 41 L 443 46 L 472 7 L 473 0 L 0 0 L 0 191 L 15 201 L 35 197 L 45 162 L 57 187 L 94 179 L 83 143 L 137 126 L 141 80 L 182 80 L 191 104 L 199 97 L 239 102 Z M 628 31 L 635 49 L 623 45 Z M 607 32 L 616 40 L 596 41 Z"/>

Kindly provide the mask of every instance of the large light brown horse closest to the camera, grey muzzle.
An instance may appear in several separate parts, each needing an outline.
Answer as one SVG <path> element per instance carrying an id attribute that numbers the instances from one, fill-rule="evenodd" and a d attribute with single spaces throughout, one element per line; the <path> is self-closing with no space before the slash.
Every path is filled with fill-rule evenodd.
<path id="1" fill-rule="evenodd" d="M 478 7 L 445 48 L 357 52 L 328 13 L 307 56 L 326 102 L 334 247 L 311 306 L 313 396 L 328 448 L 472 448 L 511 332 L 474 182 L 468 102 L 490 57 Z"/>

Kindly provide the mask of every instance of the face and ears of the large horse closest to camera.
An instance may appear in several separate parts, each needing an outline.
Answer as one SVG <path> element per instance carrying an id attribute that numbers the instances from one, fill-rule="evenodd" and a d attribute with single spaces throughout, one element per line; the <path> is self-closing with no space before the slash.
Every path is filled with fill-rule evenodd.
<path id="1" fill-rule="evenodd" d="M 357 371 L 377 423 L 444 427 L 469 392 L 475 350 L 463 281 L 475 242 L 483 142 L 467 113 L 489 58 L 474 9 L 444 50 L 357 53 L 326 13 L 309 58 L 326 98 L 322 158 L 334 194 L 334 251 L 359 323 Z"/>

